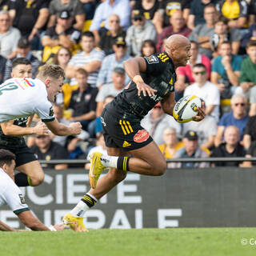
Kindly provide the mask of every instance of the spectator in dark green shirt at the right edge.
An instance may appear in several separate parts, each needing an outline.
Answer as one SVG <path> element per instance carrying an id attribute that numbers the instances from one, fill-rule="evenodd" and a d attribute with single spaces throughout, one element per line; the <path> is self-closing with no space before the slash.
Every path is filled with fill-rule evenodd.
<path id="1" fill-rule="evenodd" d="M 256 40 L 250 40 L 246 52 L 249 55 L 242 61 L 239 77 L 240 87 L 236 93 L 245 94 L 250 98 L 250 116 L 256 115 Z"/>

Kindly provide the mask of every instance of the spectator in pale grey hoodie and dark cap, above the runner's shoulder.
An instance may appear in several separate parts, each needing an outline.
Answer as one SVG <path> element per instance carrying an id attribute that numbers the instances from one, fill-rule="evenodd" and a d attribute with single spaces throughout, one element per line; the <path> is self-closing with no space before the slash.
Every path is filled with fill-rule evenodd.
<path id="1" fill-rule="evenodd" d="M 146 39 L 153 41 L 157 38 L 157 32 L 153 23 L 146 20 L 142 11 L 134 11 L 132 17 L 133 25 L 129 27 L 126 33 L 126 44 L 128 46 L 128 54 L 131 56 L 140 56 L 142 42 Z"/>

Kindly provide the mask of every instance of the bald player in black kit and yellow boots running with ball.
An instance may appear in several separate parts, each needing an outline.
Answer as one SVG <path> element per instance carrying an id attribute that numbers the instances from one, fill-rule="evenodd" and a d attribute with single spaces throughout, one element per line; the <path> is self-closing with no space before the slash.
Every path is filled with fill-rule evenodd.
<path id="1" fill-rule="evenodd" d="M 65 224 L 70 224 L 74 229 L 79 226 L 80 230 L 86 231 L 82 218 L 86 210 L 118 182 L 122 182 L 127 171 L 153 176 L 165 173 L 166 159 L 140 121 L 158 102 L 161 102 L 166 114 L 172 115 L 175 105 L 175 70 L 178 66 L 186 66 L 191 56 L 190 47 L 186 37 L 175 34 L 166 39 L 165 52 L 150 57 L 131 58 L 123 63 L 132 82 L 102 111 L 108 155 L 96 152 L 91 156 L 91 190 L 64 216 Z M 204 103 L 202 108 L 197 108 L 198 115 L 194 121 L 201 121 L 205 117 L 203 109 Z M 109 172 L 98 180 L 106 169 Z"/>

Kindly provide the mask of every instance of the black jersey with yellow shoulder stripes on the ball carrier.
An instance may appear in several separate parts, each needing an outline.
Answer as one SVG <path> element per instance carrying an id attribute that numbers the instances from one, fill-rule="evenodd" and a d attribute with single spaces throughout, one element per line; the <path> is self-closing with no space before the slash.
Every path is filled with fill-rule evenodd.
<path id="1" fill-rule="evenodd" d="M 115 116 L 136 118 L 141 120 L 144 116 L 163 98 L 174 91 L 176 73 L 174 63 L 170 57 L 163 52 L 158 55 L 144 57 L 146 61 L 146 72 L 141 73 L 144 82 L 151 88 L 157 90 L 154 96 L 138 96 L 138 89 L 134 82 L 130 82 L 112 102 L 106 105 L 106 110 Z"/>

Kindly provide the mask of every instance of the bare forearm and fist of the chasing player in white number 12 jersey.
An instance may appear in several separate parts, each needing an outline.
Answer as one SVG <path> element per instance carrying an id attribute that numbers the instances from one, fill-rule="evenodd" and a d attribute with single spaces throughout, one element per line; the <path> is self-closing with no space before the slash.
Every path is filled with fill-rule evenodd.
<path id="1" fill-rule="evenodd" d="M 80 122 L 71 122 L 69 126 L 65 126 L 56 119 L 51 122 L 46 122 L 46 126 L 52 133 L 58 136 L 78 135 L 82 130 Z"/>

